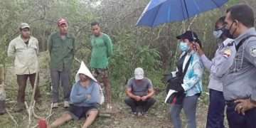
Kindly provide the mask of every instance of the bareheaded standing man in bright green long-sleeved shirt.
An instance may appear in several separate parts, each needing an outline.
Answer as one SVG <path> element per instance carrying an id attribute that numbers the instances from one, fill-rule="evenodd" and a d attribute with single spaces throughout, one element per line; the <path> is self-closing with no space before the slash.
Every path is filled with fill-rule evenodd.
<path id="1" fill-rule="evenodd" d="M 110 36 L 102 33 L 100 29 L 100 23 L 92 22 L 92 53 L 90 66 L 92 68 L 92 74 L 95 75 L 100 82 L 103 82 L 107 96 L 107 110 L 112 109 L 111 105 L 111 86 L 108 78 L 108 60 L 113 52 L 112 41 Z"/>

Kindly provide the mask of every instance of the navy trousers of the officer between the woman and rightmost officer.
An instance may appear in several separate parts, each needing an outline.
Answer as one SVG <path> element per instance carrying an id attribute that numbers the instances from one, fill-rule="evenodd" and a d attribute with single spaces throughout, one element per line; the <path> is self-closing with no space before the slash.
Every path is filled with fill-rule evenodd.
<path id="1" fill-rule="evenodd" d="M 224 128 L 225 100 L 223 92 L 210 89 L 210 105 L 208 107 L 207 128 Z"/>

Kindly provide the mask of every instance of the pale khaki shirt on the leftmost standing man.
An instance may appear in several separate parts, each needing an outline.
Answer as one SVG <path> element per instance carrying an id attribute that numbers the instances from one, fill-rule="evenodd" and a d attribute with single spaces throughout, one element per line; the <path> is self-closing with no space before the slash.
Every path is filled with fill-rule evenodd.
<path id="1" fill-rule="evenodd" d="M 8 56 L 14 57 L 16 75 L 36 73 L 38 67 L 38 40 L 31 36 L 28 45 L 21 36 L 14 38 L 8 48 Z"/>

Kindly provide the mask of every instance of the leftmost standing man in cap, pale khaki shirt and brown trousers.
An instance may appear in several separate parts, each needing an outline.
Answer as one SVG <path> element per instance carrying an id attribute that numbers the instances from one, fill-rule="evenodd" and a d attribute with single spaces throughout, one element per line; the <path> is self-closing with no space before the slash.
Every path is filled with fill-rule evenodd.
<path id="1" fill-rule="evenodd" d="M 14 109 L 15 112 L 21 112 L 25 109 L 25 90 L 26 83 L 29 78 L 31 86 L 33 88 L 36 80 L 36 73 L 38 72 L 38 40 L 31 36 L 30 26 L 28 23 L 21 23 L 19 27 L 21 34 L 11 41 L 8 48 L 8 56 L 14 57 L 14 68 L 17 75 L 18 83 L 18 96 L 17 105 Z M 37 83 L 38 84 L 38 81 Z M 36 102 L 39 101 L 40 91 L 39 87 L 36 87 Z"/>

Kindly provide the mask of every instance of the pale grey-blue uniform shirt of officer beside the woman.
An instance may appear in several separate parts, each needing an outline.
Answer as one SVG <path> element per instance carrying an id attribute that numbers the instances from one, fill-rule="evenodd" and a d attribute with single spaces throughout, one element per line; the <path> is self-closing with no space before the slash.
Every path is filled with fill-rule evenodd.
<path id="1" fill-rule="evenodd" d="M 225 52 L 227 53 L 227 56 L 223 56 L 223 53 Z M 221 82 L 220 78 L 228 71 L 228 68 L 219 70 L 218 66 L 220 66 L 220 63 L 226 63 L 226 57 L 229 57 L 228 55 L 231 53 L 235 53 L 235 45 L 233 44 L 233 39 L 227 38 L 225 41 L 223 41 L 223 43 L 219 45 L 212 60 L 209 60 L 204 54 L 201 55 L 203 65 L 207 70 L 210 71 L 208 88 L 212 90 L 218 90 L 220 92 L 223 91 L 223 83 Z"/>

